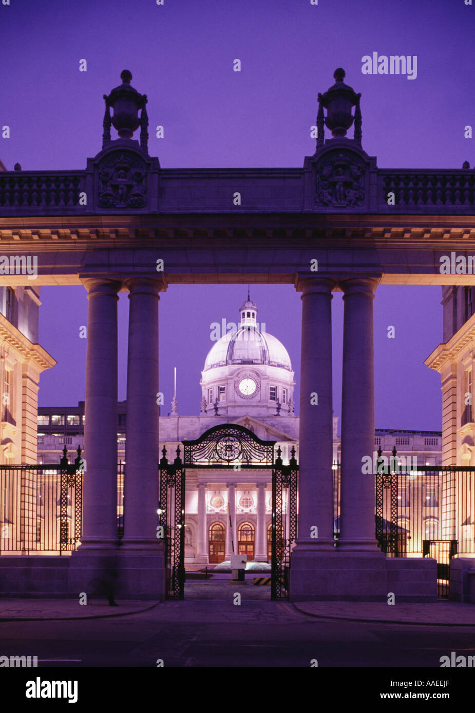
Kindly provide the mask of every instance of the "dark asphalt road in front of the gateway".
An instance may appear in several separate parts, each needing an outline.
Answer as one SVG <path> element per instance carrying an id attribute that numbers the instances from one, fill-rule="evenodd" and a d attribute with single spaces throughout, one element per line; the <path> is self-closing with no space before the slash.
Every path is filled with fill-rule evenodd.
<path id="1" fill-rule="evenodd" d="M 39 667 L 436 667 L 475 655 L 474 627 L 318 620 L 288 602 L 234 597 L 169 601 L 109 619 L 1 622 L 2 655 Z"/>

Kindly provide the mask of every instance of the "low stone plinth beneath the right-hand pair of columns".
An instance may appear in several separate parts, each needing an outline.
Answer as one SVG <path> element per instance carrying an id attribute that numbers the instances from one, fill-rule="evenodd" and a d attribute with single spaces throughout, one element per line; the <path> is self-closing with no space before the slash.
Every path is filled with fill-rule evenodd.
<path id="1" fill-rule="evenodd" d="M 381 552 L 298 552 L 291 555 L 293 602 L 436 602 L 435 560 L 386 558 Z"/>

